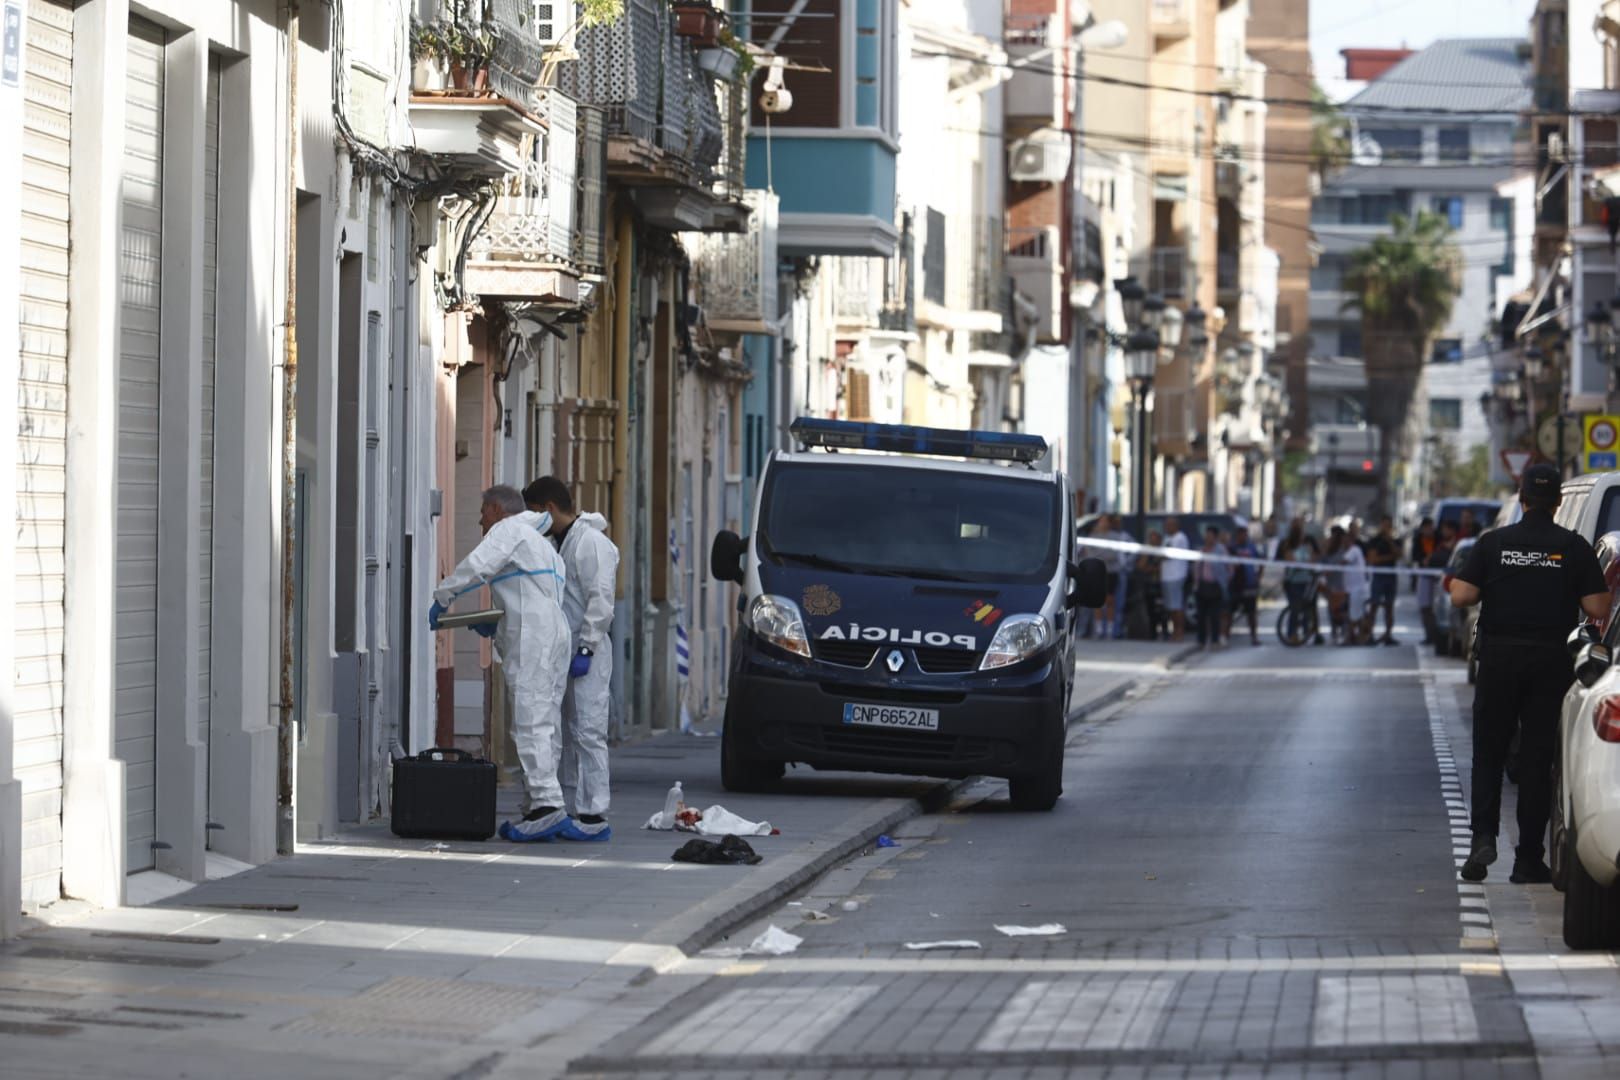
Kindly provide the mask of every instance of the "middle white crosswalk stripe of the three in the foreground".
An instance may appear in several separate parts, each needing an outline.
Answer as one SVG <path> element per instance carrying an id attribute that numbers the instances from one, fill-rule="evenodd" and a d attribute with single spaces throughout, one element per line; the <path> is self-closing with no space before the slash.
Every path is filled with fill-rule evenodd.
<path id="1" fill-rule="evenodd" d="M 1176 980 L 1068 978 L 1024 983 L 978 1040 L 978 1049 L 1142 1049 L 1153 1044 Z"/>

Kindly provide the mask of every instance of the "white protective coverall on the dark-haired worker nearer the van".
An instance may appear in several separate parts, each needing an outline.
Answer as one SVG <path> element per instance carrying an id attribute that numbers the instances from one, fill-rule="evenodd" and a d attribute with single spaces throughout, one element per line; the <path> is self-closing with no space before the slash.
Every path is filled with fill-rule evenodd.
<path id="1" fill-rule="evenodd" d="M 572 653 L 591 651 L 591 670 L 569 680 L 562 698 L 562 787 L 575 814 L 608 813 L 608 683 L 612 680 L 612 601 L 619 549 L 608 539 L 608 518 L 582 513 L 562 536 L 567 589 L 562 610 L 573 635 Z M 570 653 L 570 654 L 572 654 Z"/>

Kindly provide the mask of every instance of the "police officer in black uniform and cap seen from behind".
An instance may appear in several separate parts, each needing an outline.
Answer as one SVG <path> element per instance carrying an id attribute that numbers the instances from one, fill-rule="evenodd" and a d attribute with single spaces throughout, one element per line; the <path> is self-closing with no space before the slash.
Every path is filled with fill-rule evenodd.
<path id="1" fill-rule="evenodd" d="M 1550 881 L 1544 836 L 1552 806 L 1552 755 L 1558 708 L 1570 687 L 1565 640 L 1584 610 L 1609 610 L 1597 555 L 1580 533 L 1552 523 L 1562 497 L 1558 470 L 1533 465 L 1520 483 L 1524 518 L 1481 536 L 1452 581 L 1452 604 L 1479 612 L 1479 682 L 1474 687 L 1474 842 L 1463 881 L 1484 881 L 1497 861 L 1502 767 L 1520 732 L 1520 842 L 1508 881 Z"/>

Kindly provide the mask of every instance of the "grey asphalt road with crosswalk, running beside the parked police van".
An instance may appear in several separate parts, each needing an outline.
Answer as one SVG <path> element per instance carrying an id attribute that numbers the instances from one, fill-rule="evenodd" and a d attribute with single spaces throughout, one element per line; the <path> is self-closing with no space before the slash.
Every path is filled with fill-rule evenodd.
<path id="1" fill-rule="evenodd" d="M 575 1072 L 1541 1075 L 1432 682 L 1409 644 L 1210 653 L 1071 733 L 1053 813 L 969 790 Z M 977 947 L 906 947 L 941 941 Z"/>

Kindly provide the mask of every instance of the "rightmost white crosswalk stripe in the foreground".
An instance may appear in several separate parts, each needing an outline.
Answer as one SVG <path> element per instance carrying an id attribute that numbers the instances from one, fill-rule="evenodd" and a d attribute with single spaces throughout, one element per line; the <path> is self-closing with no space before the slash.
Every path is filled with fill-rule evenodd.
<path id="1" fill-rule="evenodd" d="M 1479 1020 L 1461 975 L 1324 975 L 1311 1043 L 1477 1043 Z"/>

